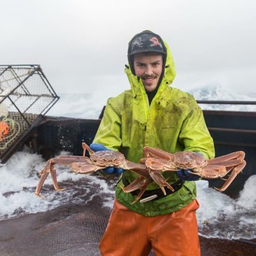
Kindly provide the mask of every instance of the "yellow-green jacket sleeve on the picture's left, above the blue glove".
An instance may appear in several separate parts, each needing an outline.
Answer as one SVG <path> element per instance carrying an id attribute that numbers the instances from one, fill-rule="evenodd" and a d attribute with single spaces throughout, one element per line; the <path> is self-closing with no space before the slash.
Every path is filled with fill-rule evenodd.
<path id="1" fill-rule="evenodd" d="M 93 143 L 102 144 L 112 150 L 118 150 L 122 145 L 121 116 L 112 108 L 109 100 Z"/>

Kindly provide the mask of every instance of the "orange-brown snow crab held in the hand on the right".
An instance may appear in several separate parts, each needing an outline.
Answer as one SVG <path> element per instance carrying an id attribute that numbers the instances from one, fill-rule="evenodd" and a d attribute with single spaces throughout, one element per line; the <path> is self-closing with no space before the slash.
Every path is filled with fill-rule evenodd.
<path id="1" fill-rule="evenodd" d="M 191 169 L 191 173 L 205 179 L 223 178 L 230 173 L 225 184 L 221 188 L 215 188 L 218 191 L 225 191 L 246 165 L 243 151 L 206 160 L 202 154 L 191 151 L 170 154 L 159 148 L 144 147 L 143 150 L 145 158 L 141 159 L 141 163 L 147 166 L 150 177 L 162 189 L 164 195 L 164 186 L 172 191 L 173 188 L 161 175 L 163 172 Z"/>

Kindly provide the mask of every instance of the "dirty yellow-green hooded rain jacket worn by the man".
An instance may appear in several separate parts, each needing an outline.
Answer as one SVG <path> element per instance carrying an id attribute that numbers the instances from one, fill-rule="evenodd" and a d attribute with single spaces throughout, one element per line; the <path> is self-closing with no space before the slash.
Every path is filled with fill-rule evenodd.
<path id="1" fill-rule="evenodd" d="M 164 44 L 167 49 L 164 76 L 150 106 L 141 79 L 134 76 L 127 66 L 125 73 L 131 90 L 108 100 L 93 143 L 118 150 L 134 163 L 140 163 L 144 146 L 161 148 L 170 153 L 189 150 L 200 152 L 207 159 L 212 158 L 214 145 L 202 109 L 192 95 L 169 86 L 175 77 L 175 66 L 168 45 Z M 138 177 L 128 170 L 122 175 L 129 182 Z M 175 172 L 164 172 L 163 175 L 170 184 L 179 180 Z M 131 204 L 136 196 L 124 193 L 120 188 L 123 185 L 122 179 L 116 184 L 118 202 L 145 216 L 177 211 L 196 197 L 195 182 L 186 181 L 182 188 L 171 195 L 143 204 Z M 148 186 L 148 189 L 157 188 L 155 182 Z"/>

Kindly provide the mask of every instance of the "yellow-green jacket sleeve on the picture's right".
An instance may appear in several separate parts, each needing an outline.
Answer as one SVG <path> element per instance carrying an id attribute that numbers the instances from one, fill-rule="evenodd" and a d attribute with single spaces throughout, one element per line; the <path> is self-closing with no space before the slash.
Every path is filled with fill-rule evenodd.
<path id="1" fill-rule="evenodd" d="M 184 145 L 184 150 L 200 152 L 206 159 L 215 156 L 214 143 L 205 124 L 203 111 L 196 102 L 184 119 L 179 142 Z"/>

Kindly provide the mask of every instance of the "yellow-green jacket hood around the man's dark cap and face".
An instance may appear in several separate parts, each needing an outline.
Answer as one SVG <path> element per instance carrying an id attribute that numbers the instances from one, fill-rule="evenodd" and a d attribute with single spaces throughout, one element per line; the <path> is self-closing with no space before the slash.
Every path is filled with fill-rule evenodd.
<path id="1" fill-rule="evenodd" d="M 172 84 L 172 82 L 176 76 L 172 52 L 170 51 L 170 48 L 166 42 L 164 42 L 164 45 L 166 47 L 166 62 L 163 65 L 164 73 L 163 73 L 161 82 L 159 84 L 159 88 L 157 90 L 157 95 L 159 93 L 163 92 L 163 90 L 165 90 L 165 88 L 167 86 Z M 132 90 L 132 94 L 134 95 L 134 97 L 135 96 L 142 97 L 142 95 L 145 95 L 146 94 L 145 88 L 143 86 L 143 83 L 142 83 L 140 77 L 137 77 L 134 74 L 132 74 L 131 68 L 129 67 L 129 65 L 125 65 L 125 73 L 127 74 L 129 83 L 131 84 L 131 90 Z"/>

